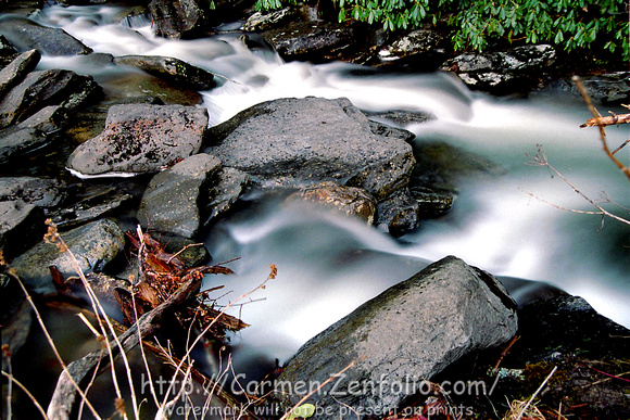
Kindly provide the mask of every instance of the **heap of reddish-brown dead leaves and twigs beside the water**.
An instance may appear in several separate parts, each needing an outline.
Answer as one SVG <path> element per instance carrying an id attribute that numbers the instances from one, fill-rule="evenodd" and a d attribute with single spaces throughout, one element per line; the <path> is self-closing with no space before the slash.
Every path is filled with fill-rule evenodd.
<path id="1" fill-rule="evenodd" d="M 129 323 L 158 307 L 180 284 L 190 279 L 201 280 L 204 275 L 234 273 L 231 269 L 222 265 L 187 267 L 177 254 L 165 252 L 164 245 L 140 230 L 127 232 L 127 239 L 131 253 L 138 258 L 139 279 L 130 292 L 117 289 L 116 300 L 125 320 Z M 210 292 L 220 288 L 223 287 L 213 288 L 210 291 L 198 291 L 194 296 L 176 309 L 175 317 L 186 330 L 191 328 L 198 331 L 207 330 L 212 335 L 223 339 L 227 331 L 238 331 L 248 327 L 240 319 L 220 314 L 214 307 L 214 300 L 210 296 Z"/>

